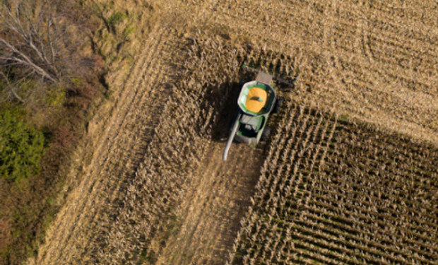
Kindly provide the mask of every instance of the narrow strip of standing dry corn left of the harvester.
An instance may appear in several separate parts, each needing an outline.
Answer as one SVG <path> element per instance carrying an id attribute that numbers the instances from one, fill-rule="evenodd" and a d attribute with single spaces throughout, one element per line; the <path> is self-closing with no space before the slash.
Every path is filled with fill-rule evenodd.
<path id="1" fill-rule="evenodd" d="M 114 205 L 117 218 L 107 220 L 97 237 L 95 262 L 136 264 L 141 253 L 150 252 L 150 239 L 165 225 L 170 206 L 182 199 L 206 155 L 217 109 L 224 103 L 216 95 L 227 78 L 219 70 L 223 62 L 217 59 L 227 54 L 211 39 L 197 40 L 188 54 L 143 162 L 121 194 L 123 201 Z"/>

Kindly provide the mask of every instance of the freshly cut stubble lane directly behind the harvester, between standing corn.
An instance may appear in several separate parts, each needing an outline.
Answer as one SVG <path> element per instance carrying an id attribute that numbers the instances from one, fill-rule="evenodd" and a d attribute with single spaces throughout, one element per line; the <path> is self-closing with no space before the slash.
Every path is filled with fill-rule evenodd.
<path id="1" fill-rule="evenodd" d="M 156 264 L 223 264 L 259 179 L 262 151 L 233 143 L 226 162 L 225 143 L 213 143 L 196 172 L 196 182 L 179 206 L 177 223 L 155 240 L 167 238 Z"/>

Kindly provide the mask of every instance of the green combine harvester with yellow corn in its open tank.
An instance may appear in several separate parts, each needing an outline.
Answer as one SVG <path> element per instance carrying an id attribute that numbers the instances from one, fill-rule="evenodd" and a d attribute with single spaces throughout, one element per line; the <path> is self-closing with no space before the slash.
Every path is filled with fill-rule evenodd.
<path id="1" fill-rule="evenodd" d="M 246 65 L 244 65 L 246 67 Z M 237 105 L 239 110 L 233 121 L 223 160 L 227 160 L 232 141 L 247 143 L 252 147 L 259 141 L 268 141 L 271 129 L 266 126 L 268 116 L 273 111 L 278 114 L 284 98 L 277 98 L 273 88 L 273 76 L 258 72 L 255 81 L 244 83 Z"/>

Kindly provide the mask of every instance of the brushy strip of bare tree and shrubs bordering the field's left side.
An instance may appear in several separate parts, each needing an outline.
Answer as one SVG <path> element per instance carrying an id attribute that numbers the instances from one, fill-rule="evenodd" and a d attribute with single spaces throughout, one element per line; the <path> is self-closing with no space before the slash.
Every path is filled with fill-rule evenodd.
<path id="1" fill-rule="evenodd" d="M 102 98 L 102 59 L 88 38 L 96 20 L 76 1 L 1 1 L 0 10 L 0 116 L 11 112 L 19 121 L 11 127 L 8 119 L 0 122 L 0 166 L 14 158 L 9 166 L 20 168 L 0 174 L 0 264 L 22 264 L 37 253 L 61 206 L 72 150 Z M 38 145 L 17 145 L 7 155 L 15 140 L 4 131 L 23 144 L 23 128 L 37 133 Z M 36 170 L 25 170 L 31 163 L 22 154 L 38 162 Z"/>

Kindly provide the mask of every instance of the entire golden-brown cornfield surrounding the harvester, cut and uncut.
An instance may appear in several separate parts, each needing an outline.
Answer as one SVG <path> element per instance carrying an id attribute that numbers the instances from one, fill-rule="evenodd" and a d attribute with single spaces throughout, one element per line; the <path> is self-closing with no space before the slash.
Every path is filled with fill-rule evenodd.
<path id="1" fill-rule="evenodd" d="M 156 20 L 106 77 L 114 95 L 33 262 L 437 264 L 436 4 L 126 3 Z M 224 164 L 251 59 L 297 81 L 271 141 Z"/>

